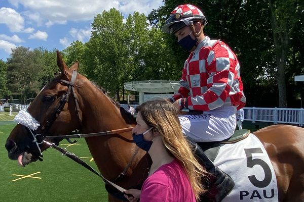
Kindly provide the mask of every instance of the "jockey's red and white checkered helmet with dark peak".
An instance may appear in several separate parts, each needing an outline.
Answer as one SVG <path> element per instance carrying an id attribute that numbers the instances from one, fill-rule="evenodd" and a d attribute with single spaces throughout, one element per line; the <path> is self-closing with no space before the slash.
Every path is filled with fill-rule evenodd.
<path id="1" fill-rule="evenodd" d="M 170 17 L 166 20 L 162 30 L 165 33 L 175 33 L 185 26 L 193 24 L 194 20 L 203 20 L 203 25 L 207 24 L 203 12 L 191 4 L 178 5 L 171 12 Z"/>

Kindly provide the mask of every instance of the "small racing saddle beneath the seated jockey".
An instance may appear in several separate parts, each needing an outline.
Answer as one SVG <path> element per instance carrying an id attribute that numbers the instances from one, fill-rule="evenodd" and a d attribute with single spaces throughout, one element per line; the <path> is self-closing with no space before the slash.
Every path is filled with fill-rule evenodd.
<path id="1" fill-rule="evenodd" d="M 224 144 L 232 144 L 238 142 L 242 139 L 245 139 L 250 134 L 250 130 L 242 129 L 236 130 L 234 134 L 223 141 L 216 141 L 216 142 L 197 142 L 197 144 L 204 150 L 206 156 L 214 162 L 220 146 Z"/>

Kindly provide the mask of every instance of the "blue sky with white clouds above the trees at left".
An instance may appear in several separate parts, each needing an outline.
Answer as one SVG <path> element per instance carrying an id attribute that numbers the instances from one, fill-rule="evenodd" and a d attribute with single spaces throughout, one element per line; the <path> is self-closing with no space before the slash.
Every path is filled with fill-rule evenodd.
<path id="1" fill-rule="evenodd" d="M 18 46 L 61 51 L 74 40 L 88 41 L 91 23 L 102 11 L 116 8 L 125 17 L 146 16 L 162 0 L 0 0 L 0 59 Z"/>

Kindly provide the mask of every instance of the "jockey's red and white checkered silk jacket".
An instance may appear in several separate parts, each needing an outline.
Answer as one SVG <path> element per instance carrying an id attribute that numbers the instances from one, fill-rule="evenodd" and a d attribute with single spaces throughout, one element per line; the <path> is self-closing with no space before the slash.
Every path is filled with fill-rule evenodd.
<path id="1" fill-rule="evenodd" d="M 208 36 L 185 61 L 181 87 L 173 99 L 189 110 L 209 111 L 221 106 L 245 106 L 240 65 L 229 46 Z"/>

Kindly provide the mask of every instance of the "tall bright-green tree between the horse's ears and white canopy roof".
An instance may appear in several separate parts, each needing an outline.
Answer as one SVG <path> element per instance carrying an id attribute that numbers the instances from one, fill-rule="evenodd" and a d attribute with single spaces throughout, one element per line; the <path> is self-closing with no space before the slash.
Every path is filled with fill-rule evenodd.
<path id="1" fill-rule="evenodd" d="M 120 99 L 120 91 L 130 69 L 128 32 L 123 15 L 116 9 L 97 14 L 87 42 L 87 75 Z"/>

